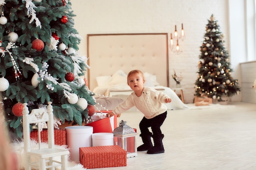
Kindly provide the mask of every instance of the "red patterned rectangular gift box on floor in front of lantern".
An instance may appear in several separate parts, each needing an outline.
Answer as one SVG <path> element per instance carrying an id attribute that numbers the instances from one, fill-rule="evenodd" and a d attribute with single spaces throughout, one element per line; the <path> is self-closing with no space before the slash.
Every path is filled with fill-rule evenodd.
<path id="1" fill-rule="evenodd" d="M 79 148 L 79 160 L 84 168 L 107 168 L 127 165 L 127 153 L 120 146 Z"/>

